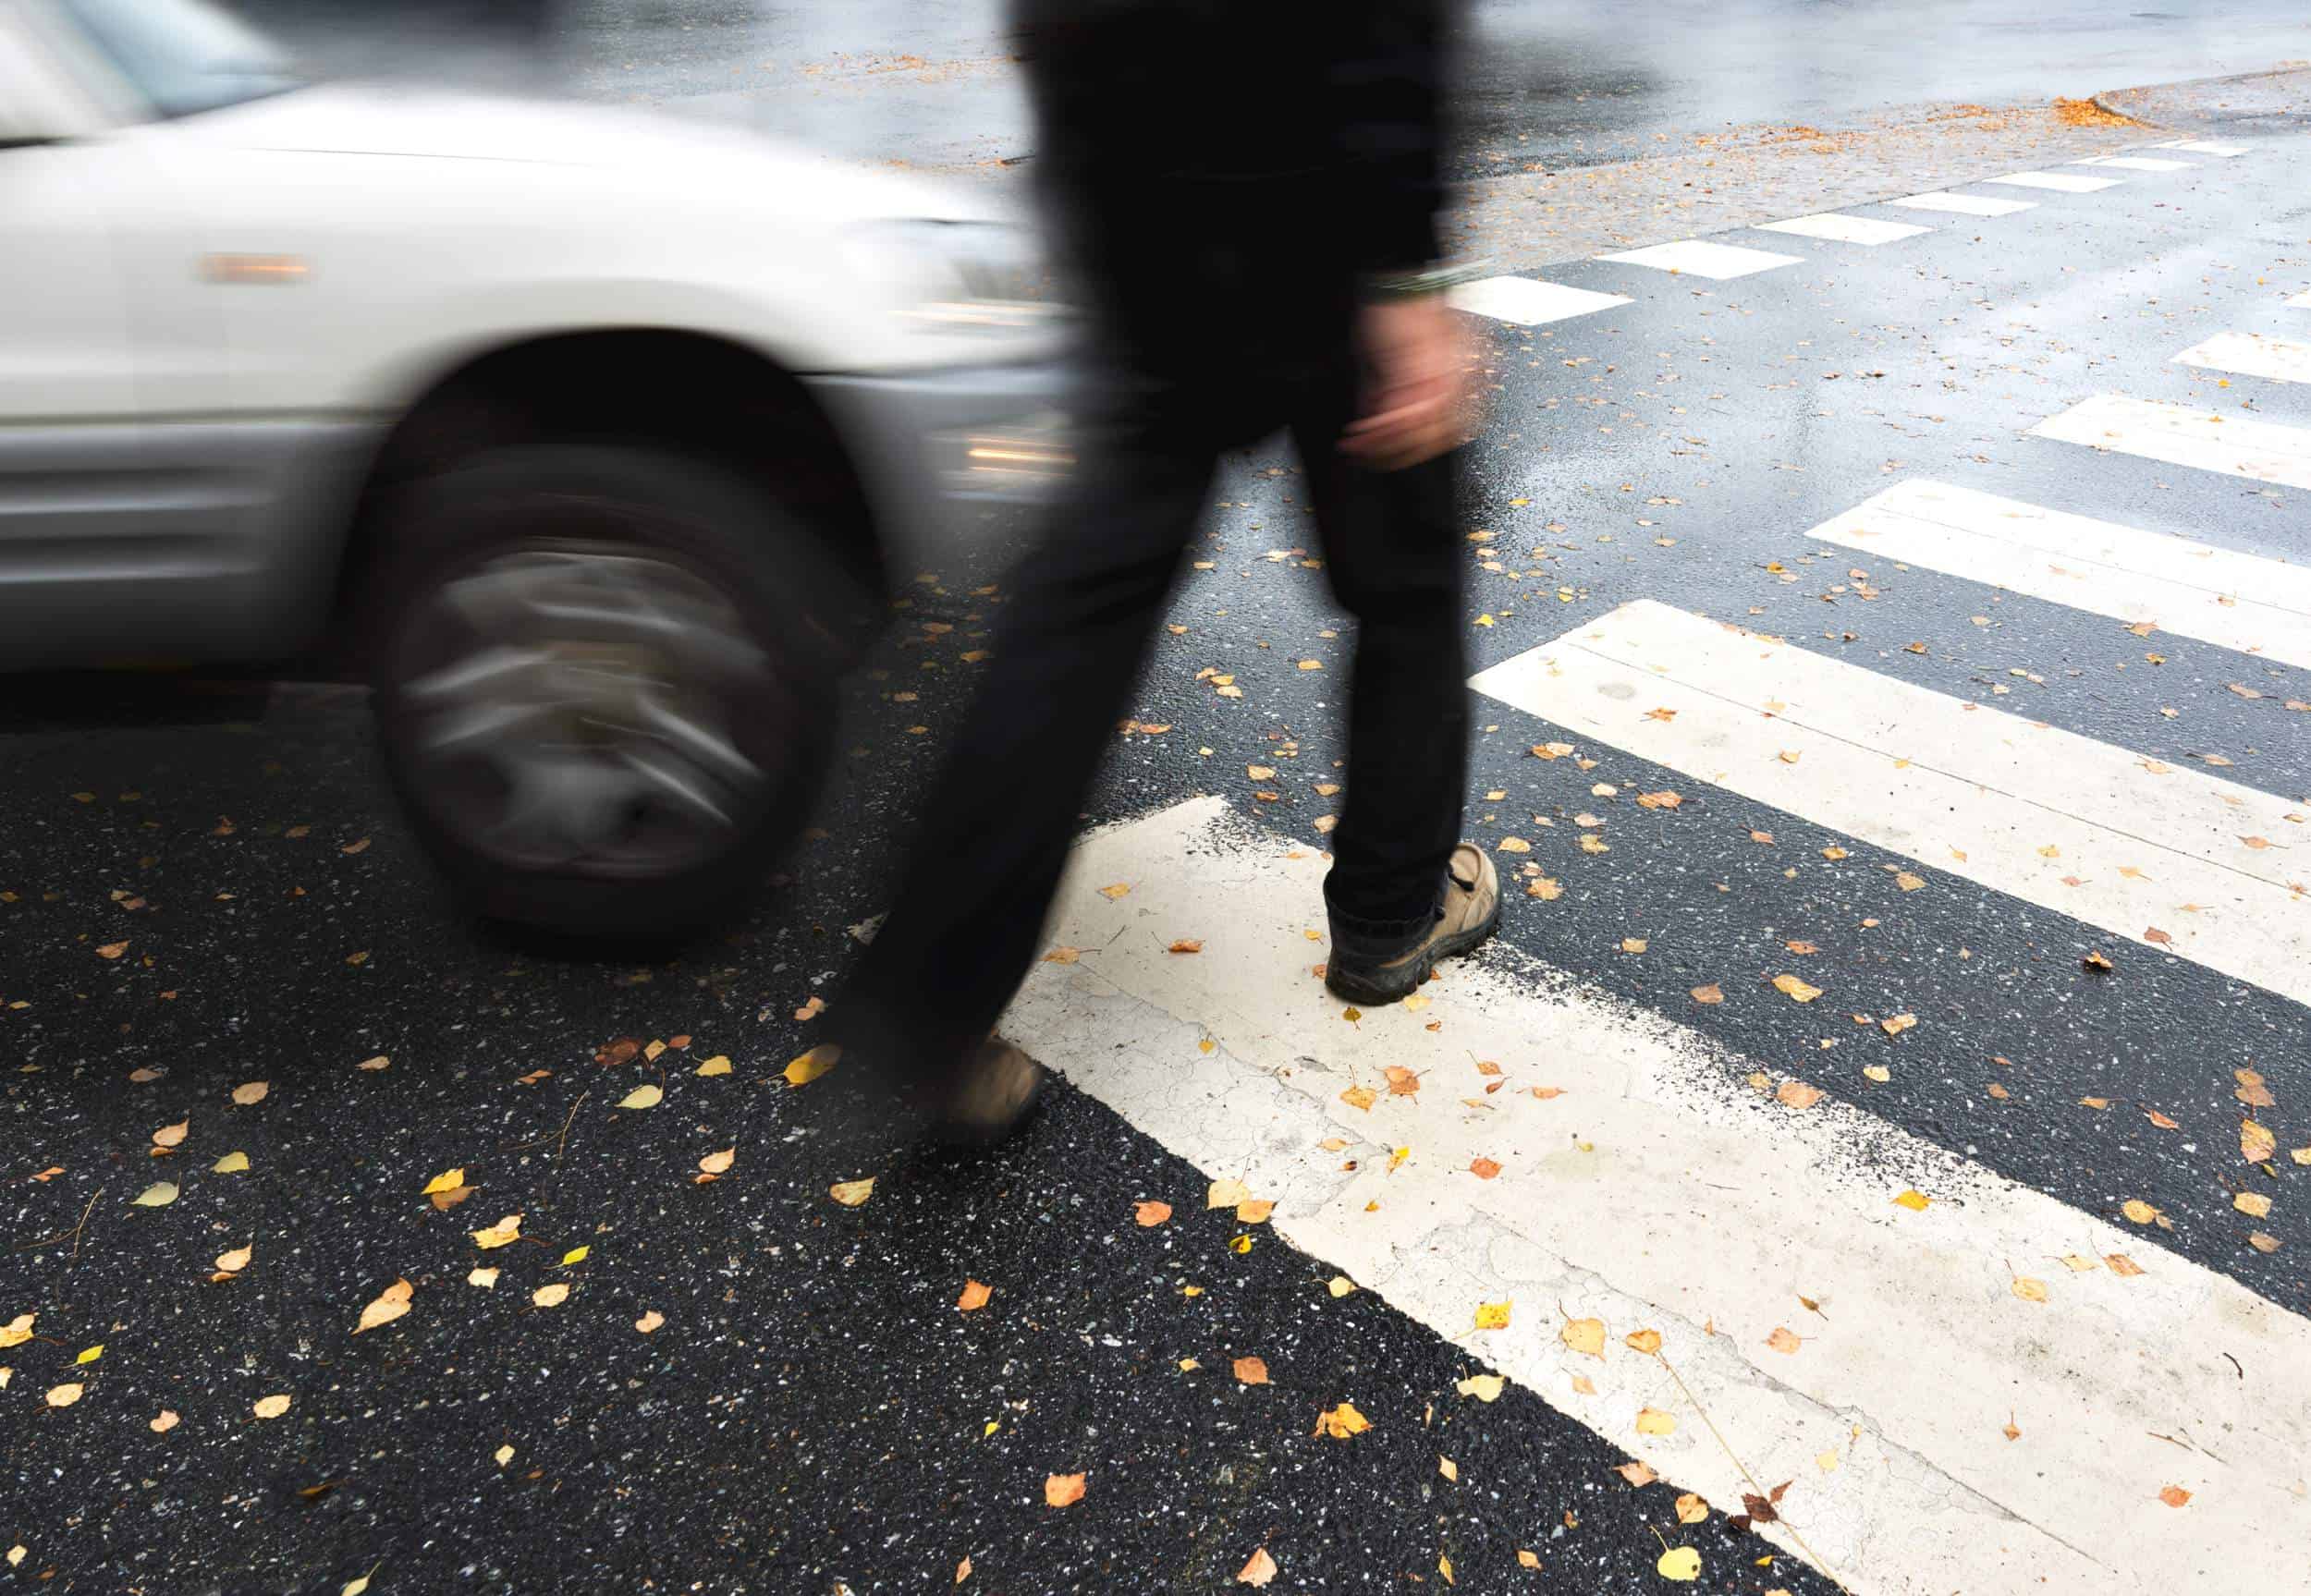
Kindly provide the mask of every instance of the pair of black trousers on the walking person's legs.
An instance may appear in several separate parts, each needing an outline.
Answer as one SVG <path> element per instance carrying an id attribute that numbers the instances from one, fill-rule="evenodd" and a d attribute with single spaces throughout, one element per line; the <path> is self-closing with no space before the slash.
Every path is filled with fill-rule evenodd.
<path id="1" fill-rule="evenodd" d="M 869 1062 L 938 1086 L 1010 1002 L 1218 455 L 1276 427 L 1299 448 L 1324 573 L 1357 617 L 1347 806 L 1324 896 L 1336 924 L 1373 938 L 1433 922 L 1467 771 L 1454 460 L 1354 467 L 1338 453 L 1354 400 L 1345 323 L 1340 349 L 1269 363 L 1225 393 L 1137 379 L 1093 400 L 1082 467 L 1005 587 L 978 700 L 846 993 L 839 1032 Z M 1223 564 L 1243 559 L 1232 550 Z M 1220 714 L 1259 714 L 1264 686 L 1246 686 Z"/>

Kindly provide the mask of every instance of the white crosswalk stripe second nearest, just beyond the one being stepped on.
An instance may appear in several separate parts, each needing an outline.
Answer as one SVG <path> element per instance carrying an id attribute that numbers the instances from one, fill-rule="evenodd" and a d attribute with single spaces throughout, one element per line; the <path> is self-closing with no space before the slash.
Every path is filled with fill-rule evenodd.
<path id="1" fill-rule="evenodd" d="M 1470 686 L 1950 875 L 2311 1002 L 2281 799 L 1652 601 Z M 1666 709 L 1669 716 L 1650 716 Z M 2156 935 L 2152 935 L 2156 931 Z"/>

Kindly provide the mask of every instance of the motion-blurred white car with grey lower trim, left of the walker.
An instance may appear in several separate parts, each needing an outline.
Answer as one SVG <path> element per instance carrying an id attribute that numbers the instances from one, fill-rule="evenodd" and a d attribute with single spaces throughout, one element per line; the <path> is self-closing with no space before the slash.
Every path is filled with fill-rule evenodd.
<path id="1" fill-rule="evenodd" d="M 0 0 L 0 665 L 317 644 L 483 912 L 698 924 L 957 494 L 1065 469 L 1024 233 L 626 111 Z"/>

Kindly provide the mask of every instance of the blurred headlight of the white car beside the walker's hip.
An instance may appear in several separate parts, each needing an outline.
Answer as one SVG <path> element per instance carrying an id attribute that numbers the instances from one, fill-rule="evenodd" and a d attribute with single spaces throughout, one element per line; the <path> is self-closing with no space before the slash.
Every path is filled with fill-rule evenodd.
<path id="1" fill-rule="evenodd" d="M 1001 222 L 878 222 L 850 236 L 848 254 L 862 282 L 927 328 L 1019 330 L 1063 314 L 1035 238 Z"/>

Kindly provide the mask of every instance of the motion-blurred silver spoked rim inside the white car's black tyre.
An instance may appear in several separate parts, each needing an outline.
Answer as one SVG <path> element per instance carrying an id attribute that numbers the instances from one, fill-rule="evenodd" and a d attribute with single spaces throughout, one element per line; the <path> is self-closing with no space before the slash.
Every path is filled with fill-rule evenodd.
<path id="1" fill-rule="evenodd" d="M 520 868 L 663 875 L 760 808 L 770 656 L 700 573 L 631 547 L 527 547 L 437 587 L 400 649 L 416 788 Z"/>

